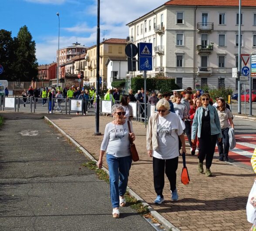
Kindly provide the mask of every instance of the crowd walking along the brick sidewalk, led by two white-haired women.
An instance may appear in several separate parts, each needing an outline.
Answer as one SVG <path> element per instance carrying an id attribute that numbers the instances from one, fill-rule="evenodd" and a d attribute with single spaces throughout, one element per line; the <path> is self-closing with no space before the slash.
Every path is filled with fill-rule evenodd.
<path id="1" fill-rule="evenodd" d="M 118 91 L 115 91 L 118 92 Z M 114 92 L 114 93 L 115 93 Z M 232 113 L 229 105 L 222 97 L 216 98 L 215 104 L 208 92 L 192 92 L 191 88 L 178 93 L 176 91 L 159 93 L 144 92 L 141 88 L 135 95 L 130 89 L 128 95 L 112 95 L 109 90 L 105 99 L 120 100 L 120 104 L 112 107 L 113 122 L 106 125 L 102 141 L 99 168 L 102 168 L 102 158 L 106 152 L 109 166 L 110 197 L 113 207 L 113 217 L 119 217 L 119 207 L 126 204 L 124 193 L 128 183 L 131 167 L 130 139 L 135 139 L 132 127 L 133 109 L 130 102 L 148 102 L 155 105 L 156 111 L 151 114 L 147 126 L 147 154 L 153 158 L 154 189 L 157 194 L 155 204 L 164 201 L 164 173 L 170 182 L 171 200 L 178 200 L 176 188 L 176 170 L 178 158 L 186 153 L 185 136 L 191 150 L 198 157 L 198 172 L 212 177 L 211 165 L 215 146 L 218 145 L 219 160 L 228 161 L 229 141 L 234 129 Z M 142 104 L 143 105 L 143 104 Z"/>

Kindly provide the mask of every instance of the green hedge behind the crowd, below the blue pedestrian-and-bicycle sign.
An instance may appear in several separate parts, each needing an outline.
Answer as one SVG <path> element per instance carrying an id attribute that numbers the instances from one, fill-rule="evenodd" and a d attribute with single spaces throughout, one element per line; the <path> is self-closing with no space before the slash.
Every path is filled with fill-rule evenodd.
<path id="1" fill-rule="evenodd" d="M 156 77 L 156 78 L 147 78 L 147 90 L 153 91 L 158 90 L 159 92 L 170 92 L 175 89 L 179 89 L 179 86 L 175 84 L 174 78 L 166 77 Z M 144 78 L 137 76 L 132 78 L 131 88 L 133 92 L 137 92 L 140 88 L 144 88 Z"/>

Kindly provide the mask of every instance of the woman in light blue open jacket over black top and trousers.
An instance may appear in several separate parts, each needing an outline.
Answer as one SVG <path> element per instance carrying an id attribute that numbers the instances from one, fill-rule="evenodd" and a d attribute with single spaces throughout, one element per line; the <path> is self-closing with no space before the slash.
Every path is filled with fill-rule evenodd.
<path id="1" fill-rule="evenodd" d="M 199 139 L 199 163 L 198 171 L 203 173 L 203 161 L 205 160 L 205 175 L 212 177 L 210 167 L 215 151 L 216 141 L 221 141 L 222 132 L 218 119 L 218 112 L 215 107 L 209 105 L 210 96 L 204 93 L 200 96 L 202 106 L 195 112 L 192 123 L 191 142 L 195 143 L 196 132 Z"/>

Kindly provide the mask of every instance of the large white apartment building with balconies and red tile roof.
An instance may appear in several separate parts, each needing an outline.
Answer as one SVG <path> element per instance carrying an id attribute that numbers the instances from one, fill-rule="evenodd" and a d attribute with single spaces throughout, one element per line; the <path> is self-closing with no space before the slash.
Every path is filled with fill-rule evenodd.
<path id="1" fill-rule="evenodd" d="M 256 54 L 255 7 L 256 1 L 242 1 L 241 54 Z M 129 42 L 153 44 L 148 78 L 175 78 L 180 88 L 237 89 L 238 17 L 238 1 L 171 0 L 128 23 Z"/>

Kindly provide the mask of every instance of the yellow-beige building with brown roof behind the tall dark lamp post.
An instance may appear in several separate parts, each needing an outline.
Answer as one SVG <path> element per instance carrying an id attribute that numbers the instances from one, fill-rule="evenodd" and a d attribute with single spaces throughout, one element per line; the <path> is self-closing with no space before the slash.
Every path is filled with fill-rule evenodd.
<path id="1" fill-rule="evenodd" d="M 110 38 L 102 41 L 99 45 L 99 76 L 102 79 L 102 88 L 106 88 L 107 85 L 107 68 L 105 66 L 109 56 L 112 57 L 126 57 L 125 55 L 126 39 L 122 38 Z M 84 78 L 88 79 L 87 82 L 90 85 L 96 86 L 96 45 L 87 49 L 85 55 L 85 68 Z M 86 82 L 86 81 L 85 81 Z"/>

